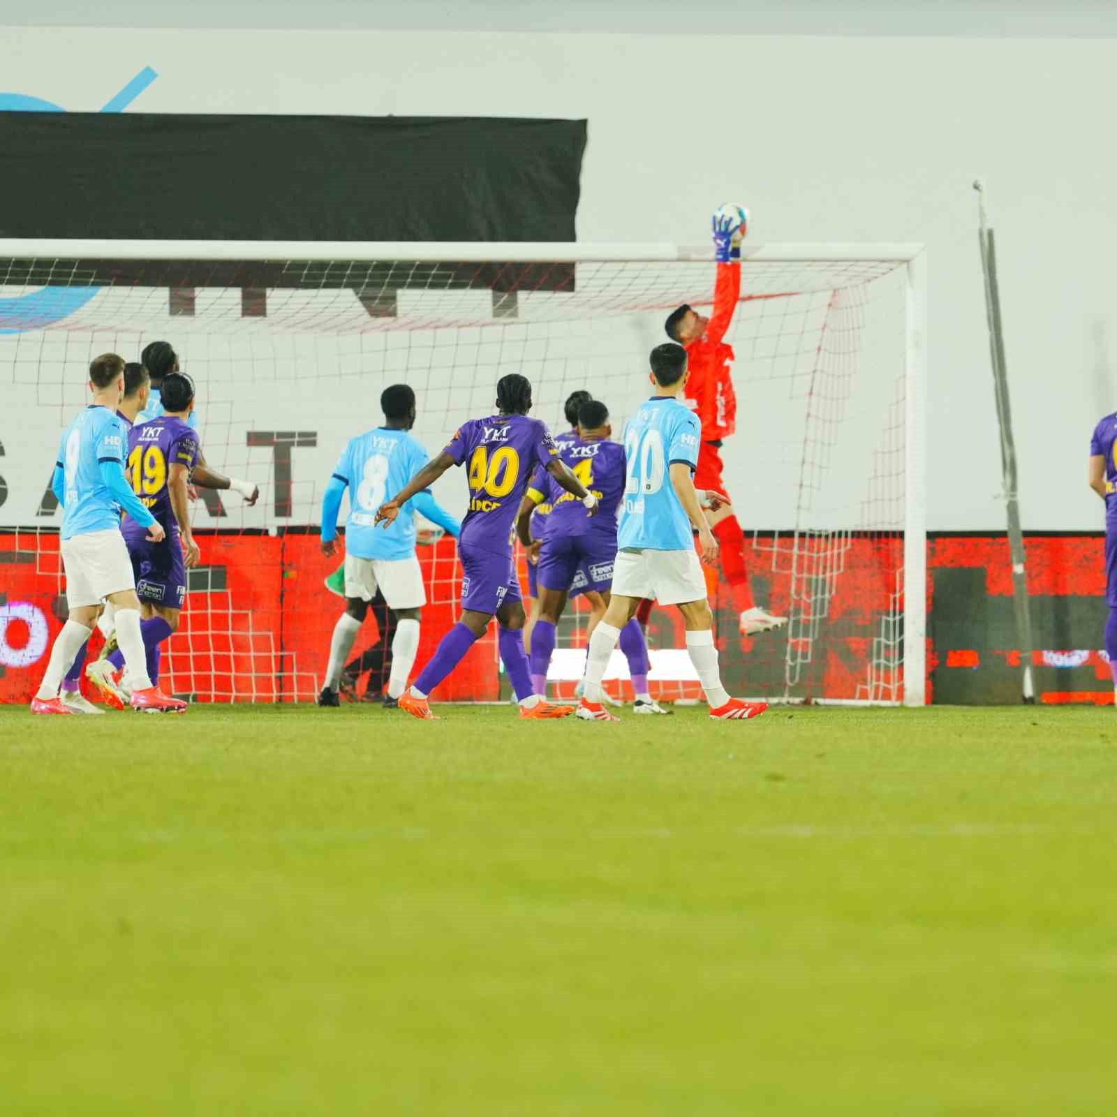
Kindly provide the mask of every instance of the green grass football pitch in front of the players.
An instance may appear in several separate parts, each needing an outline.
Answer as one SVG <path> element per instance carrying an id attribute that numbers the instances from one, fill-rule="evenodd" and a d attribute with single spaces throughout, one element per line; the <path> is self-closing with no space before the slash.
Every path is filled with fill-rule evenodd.
<path id="1" fill-rule="evenodd" d="M 0 707 L 0 1111 L 1117 1111 L 1117 713 Z"/>

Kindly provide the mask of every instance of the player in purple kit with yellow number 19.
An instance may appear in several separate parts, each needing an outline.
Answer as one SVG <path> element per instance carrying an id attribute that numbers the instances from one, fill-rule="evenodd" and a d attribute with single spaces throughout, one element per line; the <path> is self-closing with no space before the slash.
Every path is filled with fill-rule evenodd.
<path id="1" fill-rule="evenodd" d="M 178 628 L 187 596 L 187 570 L 197 566 L 198 544 L 190 526 L 187 486 L 198 462 L 198 433 L 188 423 L 194 401 L 193 381 L 181 372 L 163 379 L 163 414 L 134 426 L 128 435 L 128 472 L 132 489 L 166 533 L 159 543 L 145 538 L 131 517 L 121 525 L 128 547 L 136 581 L 136 596 L 143 615 L 141 630 L 147 656 L 147 674 L 159 678 L 162 643 Z M 105 682 L 109 669 L 115 675 L 123 667 L 120 651 L 112 652 L 104 666 L 90 665 L 90 679 L 109 697 Z M 112 682 L 126 694 L 126 682 Z"/>

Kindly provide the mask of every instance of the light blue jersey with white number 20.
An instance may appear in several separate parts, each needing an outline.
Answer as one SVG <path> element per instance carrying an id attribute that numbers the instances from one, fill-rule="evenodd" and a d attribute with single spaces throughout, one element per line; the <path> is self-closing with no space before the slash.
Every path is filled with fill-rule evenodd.
<path id="1" fill-rule="evenodd" d="M 693 551 L 690 519 L 671 484 L 670 467 L 698 465 L 701 424 L 674 395 L 653 395 L 624 426 L 627 483 L 617 546 L 633 551 Z"/>

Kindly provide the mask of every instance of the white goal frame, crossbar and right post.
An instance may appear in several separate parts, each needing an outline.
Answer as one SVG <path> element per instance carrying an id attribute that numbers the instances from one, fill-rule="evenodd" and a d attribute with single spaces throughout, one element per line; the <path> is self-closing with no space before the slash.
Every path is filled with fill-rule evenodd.
<path id="1" fill-rule="evenodd" d="M 918 244 L 746 245 L 744 261 L 904 265 L 905 478 L 904 478 L 904 699 L 926 704 L 927 675 L 927 255 Z M 63 261 L 198 260 L 307 262 L 464 260 L 515 264 L 637 264 L 714 261 L 708 246 L 671 244 L 550 244 L 497 241 L 248 241 L 0 239 L 0 258 Z"/>

